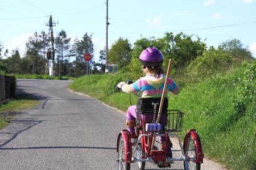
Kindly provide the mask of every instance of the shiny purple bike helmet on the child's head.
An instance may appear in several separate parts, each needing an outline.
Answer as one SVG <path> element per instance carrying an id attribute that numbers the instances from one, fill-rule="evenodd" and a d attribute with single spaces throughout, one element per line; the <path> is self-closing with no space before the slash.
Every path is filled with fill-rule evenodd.
<path id="1" fill-rule="evenodd" d="M 163 54 L 159 49 L 154 47 L 148 47 L 139 56 L 143 66 L 162 66 Z"/>

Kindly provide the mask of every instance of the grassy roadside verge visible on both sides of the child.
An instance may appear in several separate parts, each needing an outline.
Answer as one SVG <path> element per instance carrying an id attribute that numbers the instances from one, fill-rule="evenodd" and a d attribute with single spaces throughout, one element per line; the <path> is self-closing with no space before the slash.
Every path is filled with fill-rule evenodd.
<path id="1" fill-rule="evenodd" d="M 203 82 L 189 84 L 179 95 L 170 96 L 170 109 L 181 109 L 186 113 L 181 137 L 188 129 L 197 129 L 204 153 L 230 169 L 254 169 L 256 161 L 256 97 L 242 115 L 233 105 L 236 97 L 233 80 L 242 78 L 243 71 L 238 67 Z M 114 87 L 109 85 L 113 78 L 114 75 L 84 76 L 69 88 L 126 111 L 130 105 L 129 95 L 114 92 Z M 133 95 L 132 103 L 135 104 L 137 99 Z"/>

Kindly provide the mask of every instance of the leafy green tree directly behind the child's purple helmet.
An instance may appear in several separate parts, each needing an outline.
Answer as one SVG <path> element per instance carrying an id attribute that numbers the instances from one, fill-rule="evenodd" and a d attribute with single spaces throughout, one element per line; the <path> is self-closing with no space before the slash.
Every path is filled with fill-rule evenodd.
<path id="1" fill-rule="evenodd" d="M 201 42 L 199 37 L 197 40 L 192 40 L 192 36 L 179 33 L 176 36 L 172 32 L 165 33 L 164 37 L 155 39 L 150 37 L 149 39 L 142 37 L 142 39 L 134 42 L 134 48 L 131 52 L 131 62 L 129 69 L 132 78 L 138 78 L 142 76 L 141 62 L 139 62 L 139 55 L 148 46 L 158 48 L 164 56 L 163 67 L 166 69 L 169 59 L 172 59 L 172 66 L 174 69 L 187 66 L 193 59 L 201 56 L 206 49 L 206 44 Z"/>

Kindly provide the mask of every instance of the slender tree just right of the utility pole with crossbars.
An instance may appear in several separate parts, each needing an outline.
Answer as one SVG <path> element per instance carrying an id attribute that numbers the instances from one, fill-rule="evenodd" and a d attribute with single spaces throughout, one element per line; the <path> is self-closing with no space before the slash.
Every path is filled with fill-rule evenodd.
<path id="1" fill-rule="evenodd" d="M 65 31 L 61 30 L 55 39 L 55 49 L 57 54 L 57 69 L 59 69 L 59 76 L 61 75 L 61 67 L 63 65 L 63 59 L 69 52 L 71 38 L 67 37 Z M 58 68 L 59 67 L 59 68 Z"/>

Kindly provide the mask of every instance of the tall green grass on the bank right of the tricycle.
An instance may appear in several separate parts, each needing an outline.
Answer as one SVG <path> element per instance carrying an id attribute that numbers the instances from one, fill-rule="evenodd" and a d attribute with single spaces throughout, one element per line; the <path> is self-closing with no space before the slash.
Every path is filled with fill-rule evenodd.
<path id="1" fill-rule="evenodd" d="M 242 74 L 235 70 L 185 87 L 170 105 L 186 113 L 184 129 L 197 129 L 205 154 L 231 169 L 254 169 L 256 105 L 250 104 L 245 116 L 233 105 L 233 80 Z"/>

